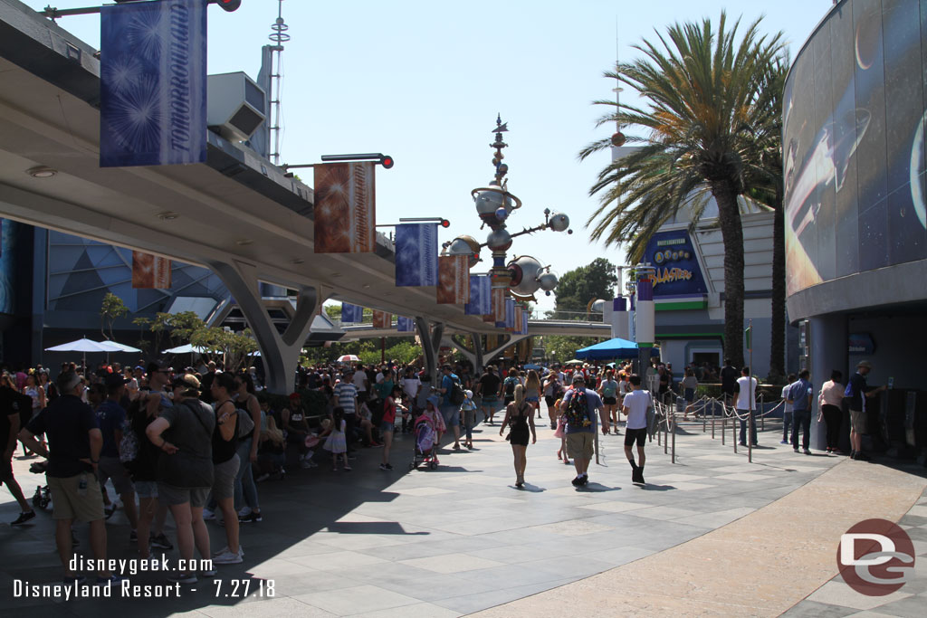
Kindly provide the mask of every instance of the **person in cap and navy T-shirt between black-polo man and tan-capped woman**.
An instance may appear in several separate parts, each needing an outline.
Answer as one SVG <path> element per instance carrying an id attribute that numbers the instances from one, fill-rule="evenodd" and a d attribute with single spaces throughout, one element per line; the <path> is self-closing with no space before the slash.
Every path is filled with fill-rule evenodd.
<path id="1" fill-rule="evenodd" d="M 112 479 L 113 487 L 122 500 L 122 510 L 129 520 L 132 532 L 129 541 L 135 543 L 138 537 L 135 530 L 138 527 L 138 511 L 135 510 L 135 487 L 129 473 L 119 458 L 119 445 L 122 441 L 122 427 L 125 425 L 125 409 L 120 405 L 122 393 L 125 390 L 125 378 L 121 373 L 110 373 L 106 378 L 107 398 L 96 408 L 96 423 L 103 434 L 103 448 L 100 450 L 100 464 L 98 466 L 100 485 L 106 486 L 107 480 Z M 115 503 L 112 509 L 115 510 Z"/>

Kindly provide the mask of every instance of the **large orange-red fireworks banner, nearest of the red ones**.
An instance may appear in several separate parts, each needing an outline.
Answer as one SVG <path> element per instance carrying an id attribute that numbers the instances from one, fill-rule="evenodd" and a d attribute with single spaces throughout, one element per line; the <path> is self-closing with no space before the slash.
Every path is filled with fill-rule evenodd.
<path id="1" fill-rule="evenodd" d="M 376 248 L 372 161 L 316 165 L 315 253 L 371 253 Z"/>

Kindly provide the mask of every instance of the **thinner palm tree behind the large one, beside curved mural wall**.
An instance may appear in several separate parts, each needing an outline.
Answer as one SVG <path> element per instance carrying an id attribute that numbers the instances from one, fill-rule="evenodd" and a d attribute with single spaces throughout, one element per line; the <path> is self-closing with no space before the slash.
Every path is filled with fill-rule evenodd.
<path id="1" fill-rule="evenodd" d="M 769 344 L 769 378 L 785 377 L 785 209 L 782 204 L 782 93 L 791 62 L 776 57 L 761 76 L 760 95 L 751 112 L 752 158 L 760 164 L 749 179 L 750 196 L 771 208 L 772 226 L 772 324 Z"/>

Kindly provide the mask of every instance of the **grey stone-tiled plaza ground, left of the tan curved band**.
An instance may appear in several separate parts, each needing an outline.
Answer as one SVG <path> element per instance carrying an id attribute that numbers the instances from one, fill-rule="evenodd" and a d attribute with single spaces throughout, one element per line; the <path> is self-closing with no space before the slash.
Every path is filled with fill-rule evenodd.
<path id="1" fill-rule="evenodd" d="M 620 574 L 622 569 L 668 556 L 667 549 L 685 548 L 690 545 L 687 541 L 712 531 L 726 536 L 731 529 L 727 524 L 751 521 L 757 511 L 761 513 L 779 498 L 818 477 L 826 478 L 822 473 L 842 461 L 824 454 L 796 455 L 791 448 L 780 447 L 774 427 L 769 427 L 760 442 L 770 446 L 756 449 L 755 462 L 749 464 L 743 449 L 735 455 L 730 442 L 722 448 L 719 439 L 701 433 L 701 424 L 692 424 L 683 427 L 677 437 L 676 465 L 655 442 L 648 446 L 649 485 L 644 488 L 630 484 L 622 437 L 603 437 L 602 465 L 593 464 L 590 486 L 577 489 L 569 484 L 572 466 L 567 468 L 555 457 L 559 440 L 551 434 L 541 429 L 538 444 L 528 448 L 524 490 L 514 488 L 511 449 L 492 427 L 480 428 L 475 451 L 445 451 L 436 471 L 408 471 L 412 441 L 407 438 L 394 449 L 396 470 L 392 473 L 376 469 L 379 450 L 363 449 L 353 462 L 352 473 L 319 468 L 298 471 L 286 481 L 260 484 L 264 521 L 242 526 L 245 562 L 219 567 L 218 596 L 216 584 L 201 581 L 192 586 L 196 590 L 184 587 L 180 599 L 144 603 L 115 597 L 68 603 L 14 599 L 14 578 L 41 584 L 60 577 L 50 515 L 40 513 L 30 527 L 0 527 L 4 558 L 0 563 L 0 615 L 40 610 L 43 618 L 101 612 L 413 618 L 458 616 L 514 601 L 514 608 L 500 608 L 512 615 L 518 603 L 558 597 L 575 600 L 571 586 L 594 582 L 595 578 L 588 579 L 591 575 Z M 27 493 L 32 493 L 29 490 L 34 490 L 39 477 L 27 472 L 28 462 L 15 461 L 14 466 Z M 851 466 L 860 472 L 879 469 L 845 462 L 834 472 Z M 800 501 L 794 505 L 796 513 L 804 508 Z M 876 504 L 874 509 L 882 507 Z M 0 492 L 0 521 L 15 518 L 16 511 L 8 493 Z M 788 516 L 781 513 L 783 523 Z M 765 526 L 750 529 L 765 541 L 787 534 L 781 526 Z M 133 557 L 121 512 L 110 521 L 108 530 L 109 556 Z M 210 524 L 210 534 L 214 548 L 224 544 L 221 527 Z M 79 528 L 78 536 L 82 548 L 87 548 L 85 526 Z M 778 540 L 766 543 L 781 545 Z M 777 564 L 761 560 L 766 546 L 757 547 L 761 549 L 747 549 L 747 553 L 752 551 L 760 566 L 765 564 L 767 581 L 775 584 Z M 835 541 L 830 554 L 833 547 Z M 176 551 L 168 557 L 176 559 Z M 692 568 L 679 562 L 672 566 Z M 830 569 L 816 575 L 819 582 L 809 580 L 807 591 L 790 603 L 783 601 L 780 611 L 826 581 L 835 566 Z M 248 599 L 225 596 L 235 592 L 233 580 L 249 582 Z M 255 595 L 260 580 L 264 580 L 264 598 Z M 156 584 L 163 580 L 157 574 L 140 574 L 132 581 Z M 659 586 L 660 581 L 648 581 L 647 586 Z M 698 582 L 699 577 L 692 581 Z M 273 598 L 266 594 L 270 582 Z M 629 586 L 613 581 L 603 589 L 610 592 L 603 595 L 593 589 L 586 595 L 593 603 L 586 610 L 590 615 L 602 613 L 597 608 L 614 615 L 614 608 L 600 606 L 598 601 L 616 597 L 616 590 Z M 535 613 L 534 609 L 529 612 Z"/>

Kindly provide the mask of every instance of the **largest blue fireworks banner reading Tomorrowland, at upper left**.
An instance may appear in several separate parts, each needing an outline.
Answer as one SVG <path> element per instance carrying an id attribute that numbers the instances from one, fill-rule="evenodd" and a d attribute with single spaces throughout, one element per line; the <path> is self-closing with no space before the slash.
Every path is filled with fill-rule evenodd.
<path id="1" fill-rule="evenodd" d="M 206 161 L 206 2 L 100 11 L 100 167 Z"/>

